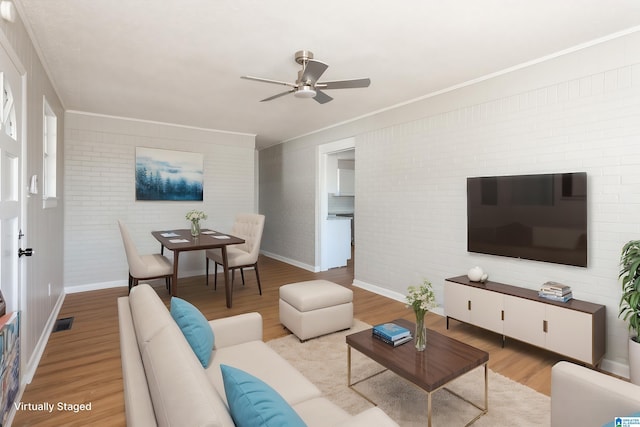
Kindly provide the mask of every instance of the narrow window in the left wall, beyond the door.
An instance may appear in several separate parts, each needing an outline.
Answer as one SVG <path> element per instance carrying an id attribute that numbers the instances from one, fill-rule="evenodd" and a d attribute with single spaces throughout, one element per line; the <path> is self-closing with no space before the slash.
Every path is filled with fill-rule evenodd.
<path id="1" fill-rule="evenodd" d="M 57 145 L 58 118 L 53 113 L 47 100 L 44 100 L 44 119 L 42 124 L 42 199 L 45 208 L 55 207 L 57 185 Z"/>

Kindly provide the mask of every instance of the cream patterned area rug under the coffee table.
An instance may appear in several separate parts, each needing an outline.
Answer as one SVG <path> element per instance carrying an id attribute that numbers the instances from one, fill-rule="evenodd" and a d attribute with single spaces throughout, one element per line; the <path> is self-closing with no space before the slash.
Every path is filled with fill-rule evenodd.
<path id="1" fill-rule="evenodd" d="M 269 341 L 267 344 L 313 382 L 329 400 L 351 414 L 372 406 L 366 399 L 347 387 L 348 334 L 369 328 L 355 320 L 354 326 L 343 332 L 326 335 L 304 343 L 293 335 Z M 405 345 L 411 345 L 410 343 Z M 353 350 L 352 380 L 379 372 L 382 367 Z M 412 383 L 387 371 L 358 384 L 356 388 L 370 397 L 401 426 L 424 426 L 427 421 L 427 395 Z M 452 381 L 451 391 L 478 404 L 484 403 L 484 369 L 475 369 Z M 432 396 L 434 426 L 464 426 L 480 410 L 455 397 L 445 389 Z M 518 382 L 489 370 L 489 411 L 474 426 L 548 426 L 549 397 Z"/>

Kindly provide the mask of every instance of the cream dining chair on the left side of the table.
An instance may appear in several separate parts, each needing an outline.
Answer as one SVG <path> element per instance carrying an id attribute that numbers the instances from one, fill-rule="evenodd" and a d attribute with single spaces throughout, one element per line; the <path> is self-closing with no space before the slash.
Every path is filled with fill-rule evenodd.
<path id="1" fill-rule="evenodd" d="M 161 254 L 140 255 L 136 249 L 129 230 L 118 220 L 124 251 L 127 254 L 129 264 L 129 290 L 138 284 L 139 280 L 159 279 L 164 277 L 167 289 L 171 289 L 171 277 L 173 277 L 173 264 L 167 257 Z"/>

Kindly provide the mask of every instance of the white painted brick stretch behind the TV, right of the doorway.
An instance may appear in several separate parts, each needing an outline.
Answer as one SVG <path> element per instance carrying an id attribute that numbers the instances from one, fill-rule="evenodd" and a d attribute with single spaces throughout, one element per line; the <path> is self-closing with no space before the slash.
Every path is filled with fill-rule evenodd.
<path id="1" fill-rule="evenodd" d="M 617 319 L 622 245 L 640 238 L 640 65 L 461 106 L 356 140 L 356 280 L 395 291 L 474 265 L 537 289 L 566 283 L 607 306 L 607 359 L 626 359 Z M 466 251 L 466 178 L 585 171 L 589 267 Z M 386 208 L 390 206 L 392 208 Z"/>

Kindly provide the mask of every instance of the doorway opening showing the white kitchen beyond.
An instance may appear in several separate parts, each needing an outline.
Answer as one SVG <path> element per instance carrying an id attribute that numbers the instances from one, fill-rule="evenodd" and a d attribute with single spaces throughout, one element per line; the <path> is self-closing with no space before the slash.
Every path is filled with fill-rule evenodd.
<path id="1" fill-rule="evenodd" d="M 346 266 L 353 254 L 355 170 L 340 173 L 338 161 L 355 165 L 355 138 L 318 146 L 317 158 L 316 270 L 325 271 Z"/>

